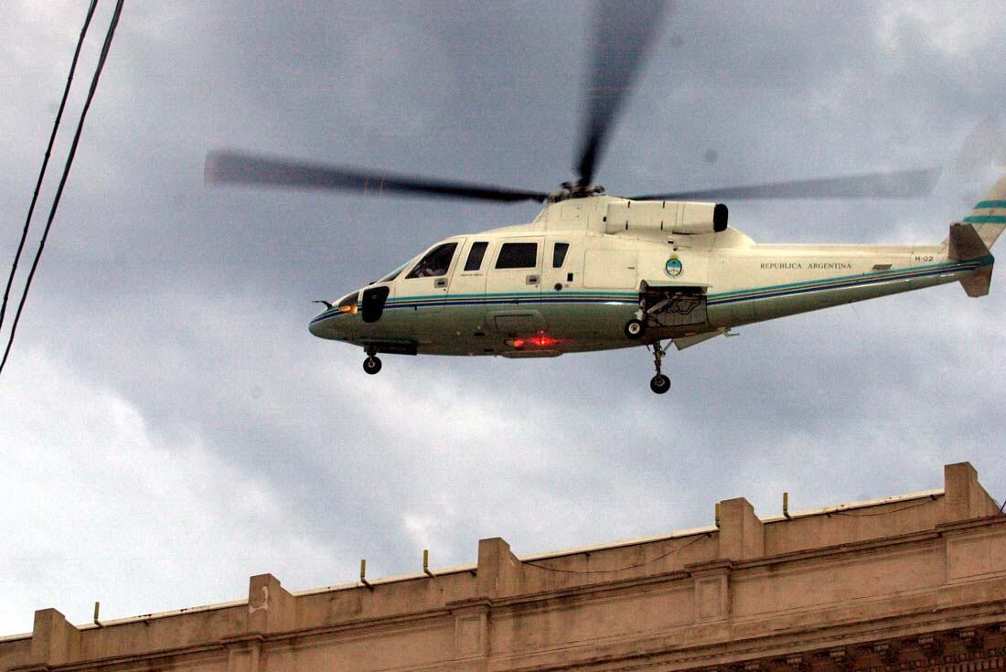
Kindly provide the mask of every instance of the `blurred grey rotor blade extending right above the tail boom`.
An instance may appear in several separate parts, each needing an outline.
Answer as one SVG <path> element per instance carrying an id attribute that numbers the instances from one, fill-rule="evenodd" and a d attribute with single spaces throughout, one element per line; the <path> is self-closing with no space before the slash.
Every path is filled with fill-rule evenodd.
<path id="1" fill-rule="evenodd" d="M 933 191 L 939 168 L 869 173 L 795 182 L 770 182 L 744 187 L 674 191 L 632 196 L 633 200 L 745 200 L 756 198 L 914 198 Z"/>

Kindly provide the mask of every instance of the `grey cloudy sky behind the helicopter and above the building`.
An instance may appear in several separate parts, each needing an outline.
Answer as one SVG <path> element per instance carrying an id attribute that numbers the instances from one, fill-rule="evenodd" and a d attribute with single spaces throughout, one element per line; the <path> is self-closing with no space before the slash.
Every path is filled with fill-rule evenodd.
<path id="1" fill-rule="evenodd" d="M 86 9 L 4 13 L 4 277 Z M 1002 9 L 684 4 L 598 180 L 942 166 L 915 201 L 730 204 L 760 241 L 939 242 L 1006 171 Z M 664 396 L 641 348 L 389 355 L 367 376 L 361 351 L 308 333 L 310 302 L 533 205 L 203 186 L 206 151 L 234 147 L 554 188 L 589 27 L 581 3 L 127 3 L 0 377 L 0 634 L 47 607 L 83 623 L 95 601 L 112 619 L 240 600 L 266 571 L 304 590 L 362 557 L 372 576 L 417 570 L 424 548 L 474 562 L 480 537 L 529 554 L 660 534 L 736 496 L 768 516 L 784 490 L 799 509 L 938 488 L 962 460 L 1006 498 L 1001 278 L 980 300 L 954 285 L 739 329 L 672 353 Z"/>

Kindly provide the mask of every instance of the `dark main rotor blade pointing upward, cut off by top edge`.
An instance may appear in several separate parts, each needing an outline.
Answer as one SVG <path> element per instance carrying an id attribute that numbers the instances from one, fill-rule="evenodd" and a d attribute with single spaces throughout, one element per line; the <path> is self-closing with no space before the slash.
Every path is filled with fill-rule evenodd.
<path id="1" fill-rule="evenodd" d="M 662 0 L 600 0 L 594 17 L 588 100 L 580 150 L 573 166 L 581 186 L 592 183 L 605 141 L 661 24 Z"/>

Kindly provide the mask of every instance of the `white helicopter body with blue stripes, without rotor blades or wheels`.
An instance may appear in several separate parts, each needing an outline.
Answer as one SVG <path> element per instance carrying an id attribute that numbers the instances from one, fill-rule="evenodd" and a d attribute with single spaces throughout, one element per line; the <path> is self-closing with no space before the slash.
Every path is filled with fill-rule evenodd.
<path id="1" fill-rule="evenodd" d="M 689 221 L 692 205 L 708 207 Z M 370 354 L 543 357 L 667 339 L 683 348 L 740 325 L 961 281 L 993 263 L 951 259 L 946 241 L 758 244 L 725 226 L 725 209 L 713 230 L 712 206 L 550 203 L 531 223 L 438 242 L 310 329 Z"/>

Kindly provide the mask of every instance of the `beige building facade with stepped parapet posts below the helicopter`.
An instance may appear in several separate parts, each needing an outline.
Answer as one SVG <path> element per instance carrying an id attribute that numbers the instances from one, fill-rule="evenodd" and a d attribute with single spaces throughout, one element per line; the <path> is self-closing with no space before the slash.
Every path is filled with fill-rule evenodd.
<path id="1" fill-rule="evenodd" d="M 35 613 L 0 670 L 985 672 L 1006 667 L 1006 515 L 968 463 L 942 490 L 72 626 Z"/>

